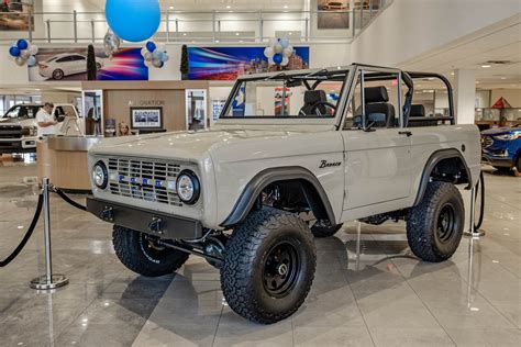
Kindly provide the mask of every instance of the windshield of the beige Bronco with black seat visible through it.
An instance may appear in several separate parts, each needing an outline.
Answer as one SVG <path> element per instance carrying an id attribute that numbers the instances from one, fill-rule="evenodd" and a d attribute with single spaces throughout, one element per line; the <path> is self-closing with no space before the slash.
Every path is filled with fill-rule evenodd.
<path id="1" fill-rule="evenodd" d="M 243 80 L 223 117 L 334 117 L 347 71 Z"/>

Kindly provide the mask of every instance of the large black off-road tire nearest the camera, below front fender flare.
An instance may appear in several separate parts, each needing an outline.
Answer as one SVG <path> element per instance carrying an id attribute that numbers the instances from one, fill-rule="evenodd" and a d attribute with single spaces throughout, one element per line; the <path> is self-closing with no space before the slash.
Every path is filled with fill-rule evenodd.
<path id="1" fill-rule="evenodd" d="M 286 253 L 280 253 L 285 247 L 292 257 L 285 259 Z M 288 258 L 293 260 L 286 262 L 284 279 L 277 269 Z M 239 225 L 228 242 L 221 287 L 228 304 L 237 314 L 253 322 L 273 324 L 300 307 L 311 288 L 315 267 L 313 235 L 306 222 L 296 214 L 260 210 Z M 280 287 L 274 284 L 277 281 Z"/>

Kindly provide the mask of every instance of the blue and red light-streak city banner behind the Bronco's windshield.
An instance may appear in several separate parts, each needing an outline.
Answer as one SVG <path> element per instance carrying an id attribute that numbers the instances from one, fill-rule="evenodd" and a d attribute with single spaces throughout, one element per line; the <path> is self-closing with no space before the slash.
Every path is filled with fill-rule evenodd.
<path id="1" fill-rule="evenodd" d="M 309 68 L 309 47 L 293 47 L 287 66 L 268 66 L 262 47 L 189 47 L 189 79 L 235 80 L 241 75 Z"/>

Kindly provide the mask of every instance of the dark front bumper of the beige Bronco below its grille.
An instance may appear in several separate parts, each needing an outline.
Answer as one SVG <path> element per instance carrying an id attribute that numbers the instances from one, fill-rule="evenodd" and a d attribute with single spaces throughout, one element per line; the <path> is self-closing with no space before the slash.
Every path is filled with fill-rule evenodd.
<path id="1" fill-rule="evenodd" d="M 202 226 L 199 221 L 157 211 L 135 209 L 95 198 L 87 198 L 87 211 L 106 222 L 160 238 L 190 239 L 202 237 Z"/>

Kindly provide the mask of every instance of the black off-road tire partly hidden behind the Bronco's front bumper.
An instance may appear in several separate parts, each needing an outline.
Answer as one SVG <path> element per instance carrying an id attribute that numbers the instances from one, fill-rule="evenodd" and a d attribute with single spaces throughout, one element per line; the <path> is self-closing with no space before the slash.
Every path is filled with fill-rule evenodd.
<path id="1" fill-rule="evenodd" d="M 189 254 L 154 246 L 143 233 L 114 225 L 112 243 L 115 255 L 130 270 L 146 276 L 169 275 L 187 261 Z"/>

